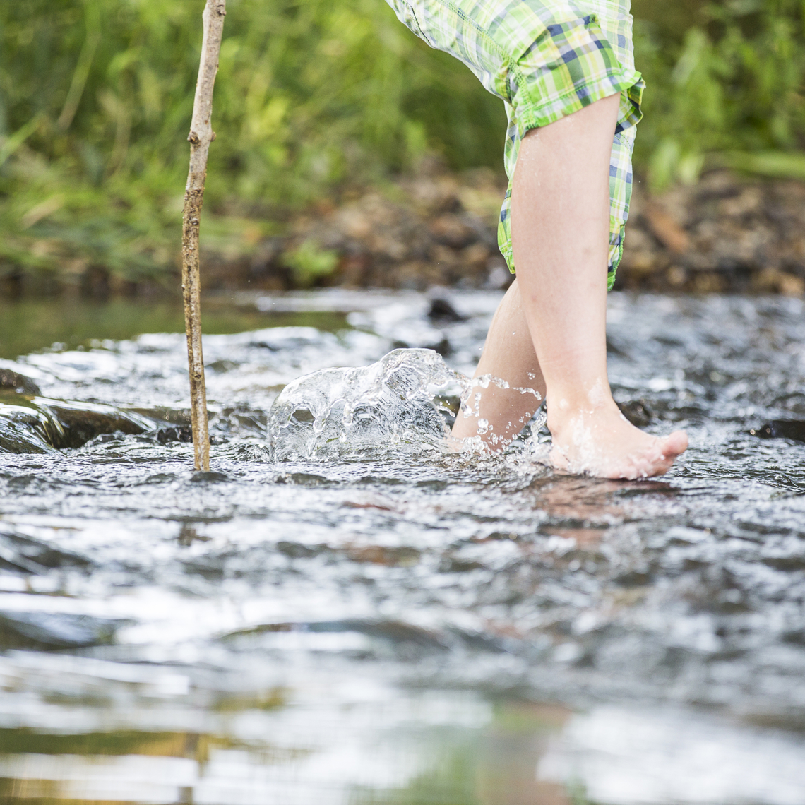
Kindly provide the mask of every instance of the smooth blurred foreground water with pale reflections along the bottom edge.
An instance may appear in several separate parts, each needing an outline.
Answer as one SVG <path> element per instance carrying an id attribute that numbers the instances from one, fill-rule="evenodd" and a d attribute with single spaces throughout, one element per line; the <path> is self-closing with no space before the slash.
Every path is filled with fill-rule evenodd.
<path id="1" fill-rule="evenodd" d="M 6 801 L 799 805 L 805 791 L 805 741 L 697 713 L 305 679 L 301 696 L 214 702 L 157 682 L 135 716 L 114 688 L 147 674 L 126 671 L 68 663 L 101 675 L 101 720 L 62 700 L 38 708 L 39 729 L 0 729 Z"/>

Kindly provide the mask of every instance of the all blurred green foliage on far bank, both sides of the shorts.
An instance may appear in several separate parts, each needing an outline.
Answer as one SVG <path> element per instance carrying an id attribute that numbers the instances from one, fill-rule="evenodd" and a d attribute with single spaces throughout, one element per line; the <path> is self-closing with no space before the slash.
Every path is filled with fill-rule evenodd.
<path id="1" fill-rule="evenodd" d="M 0 6 L 0 275 L 175 270 L 202 7 Z M 635 2 L 649 85 L 635 160 L 654 188 L 695 180 L 707 160 L 803 175 L 803 9 Z M 220 230 L 382 182 L 427 153 L 499 168 L 505 115 L 382 0 L 229 0 L 213 124 L 205 221 Z M 293 262 L 312 282 L 328 256 Z"/>

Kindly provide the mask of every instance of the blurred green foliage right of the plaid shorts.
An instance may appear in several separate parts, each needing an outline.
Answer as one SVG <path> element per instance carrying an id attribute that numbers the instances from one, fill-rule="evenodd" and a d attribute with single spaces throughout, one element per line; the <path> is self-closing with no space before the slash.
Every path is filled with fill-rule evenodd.
<path id="1" fill-rule="evenodd" d="M 633 12 L 649 86 L 635 163 L 652 188 L 707 163 L 803 178 L 803 0 L 636 0 Z"/>

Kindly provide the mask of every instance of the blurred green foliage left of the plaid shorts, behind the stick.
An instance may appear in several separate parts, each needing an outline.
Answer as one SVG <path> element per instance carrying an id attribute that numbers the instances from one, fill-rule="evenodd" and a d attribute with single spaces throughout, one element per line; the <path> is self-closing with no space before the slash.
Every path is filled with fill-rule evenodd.
<path id="1" fill-rule="evenodd" d="M 0 273 L 176 265 L 203 2 L 0 6 Z M 426 152 L 499 161 L 500 105 L 379 0 L 231 0 L 213 214 L 286 212 Z"/>

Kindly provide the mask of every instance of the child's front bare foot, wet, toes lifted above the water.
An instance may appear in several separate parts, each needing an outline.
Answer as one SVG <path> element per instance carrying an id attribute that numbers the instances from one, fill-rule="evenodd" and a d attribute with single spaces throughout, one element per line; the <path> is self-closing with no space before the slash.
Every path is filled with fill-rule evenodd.
<path id="1" fill-rule="evenodd" d="M 551 463 L 555 469 L 597 478 L 650 478 L 671 469 L 687 450 L 687 433 L 650 436 L 634 427 L 614 403 L 551 416 Z"/>

